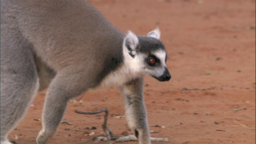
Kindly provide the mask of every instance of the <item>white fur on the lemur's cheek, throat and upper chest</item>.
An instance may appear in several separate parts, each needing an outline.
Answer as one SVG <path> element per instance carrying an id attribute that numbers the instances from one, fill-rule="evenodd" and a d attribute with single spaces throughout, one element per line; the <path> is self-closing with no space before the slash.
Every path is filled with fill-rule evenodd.
<path id="1" fill-rule="evenodd" d="M 123 45 L 125 46 L 125 44 Z M 125 82 L 129 82 L 130 80 L 149 75 L 149 76 L 161 76 L 164 73 L 166 64 L 165 64 L 165 58 L 166 58 L 166 52 L 164 50 L 157 50 L 155 52 L 151 52 L 151 54 L 154 54 L 161 62 L 160 66 L 156 66 L 153 69 L 148 69 L 145 66 L 145 58 L 148 56 L 146 54 L 136 54 L 134 58 L 126 52 L 127 48 L 124 48 L 124 64 L 120 66 L 117 70 L 110 72 L 102 80 L 100 83 L 100 86 L 97 88 L 106 88 L 109 86 L 121 86 Z"/>

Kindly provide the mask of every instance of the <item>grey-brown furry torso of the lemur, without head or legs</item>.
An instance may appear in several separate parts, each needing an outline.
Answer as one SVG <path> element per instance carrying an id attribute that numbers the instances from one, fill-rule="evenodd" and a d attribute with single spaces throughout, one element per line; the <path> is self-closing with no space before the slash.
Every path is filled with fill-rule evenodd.
<path id="1" fill-rule="evenodd" d="M 113 54 L 122 60 L 120 47 L 125 35 L 90 4 L 80 0 L 51 0 L 50 4 L 41 0 L 12 1 L 4 2 L 12 8 L 3 8 L 3 14 L 14 15 L 12 25 L 33 45 L 36 55 L 55 70 L 72 68 L 73 61 L 103 67 L 108 55 Z M 76 55 L 76 59 L 70 60 L 70 55 Z M 100 81 L 100 77 L 94 79 Z"/>

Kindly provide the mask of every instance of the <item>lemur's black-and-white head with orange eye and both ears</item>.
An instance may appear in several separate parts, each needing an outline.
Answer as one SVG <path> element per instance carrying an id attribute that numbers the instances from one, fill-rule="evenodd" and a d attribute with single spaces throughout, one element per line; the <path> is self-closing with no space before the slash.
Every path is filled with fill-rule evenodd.
<path id="1" fill-rule="evenodd" d="M 132 74 L 149 75 L 159 81 L 168 81 L 171 75 L 166 68 L 166 51 L 157 28 L 148 36 L 128 32 L 123 42 L 124 62 Z"/>

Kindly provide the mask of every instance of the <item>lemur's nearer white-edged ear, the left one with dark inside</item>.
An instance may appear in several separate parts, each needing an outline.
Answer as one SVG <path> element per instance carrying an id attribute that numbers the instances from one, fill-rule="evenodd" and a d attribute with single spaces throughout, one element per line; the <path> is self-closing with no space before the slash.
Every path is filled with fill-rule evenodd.
<path id="1" fill-rule="evenodd" d="M 124 39 L 124 44 L 130 56 L 134 58 L 134 56 L 136 55 L 136 52 L 138 51 L 138 44 L 139 44 L 138 37 L 133 32 L 128 31 L 128 34 Z"/>

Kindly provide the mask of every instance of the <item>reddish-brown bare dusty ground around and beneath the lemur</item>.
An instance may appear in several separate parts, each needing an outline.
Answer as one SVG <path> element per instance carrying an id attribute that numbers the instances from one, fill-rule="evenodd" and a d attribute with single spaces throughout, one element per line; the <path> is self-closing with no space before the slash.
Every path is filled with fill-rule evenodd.
<path id="1" fill-rule="evenodd" d="M 156 27 L 162 30 L 172 79 L 158 82 L 146 77 L 149 124 L 166 127 L 150 127 L 159 132 L 152 137 L 168 138 L 169 144 L 255 144 L 255 0 L 90 2 L 124 32 L 145 35 Z M 103 132 L 101 114 L 88 116 L 74 110 L 108 107 L 112 114 L 108 126 L 114 134 L 130 133 L 126 120 L 114 116 L 124 114 L 117 90 L 87 92 L 81 100 L 69 102 L 64 120 L 72 125 L 61 124 L 50 144 L 82 144 L 91 137 L 66 128 L 96 126 L 90 132 Z M 43 103 L 41 92 L 10 139 L 18 139 L 17 144 L 35 143 Z"/>

